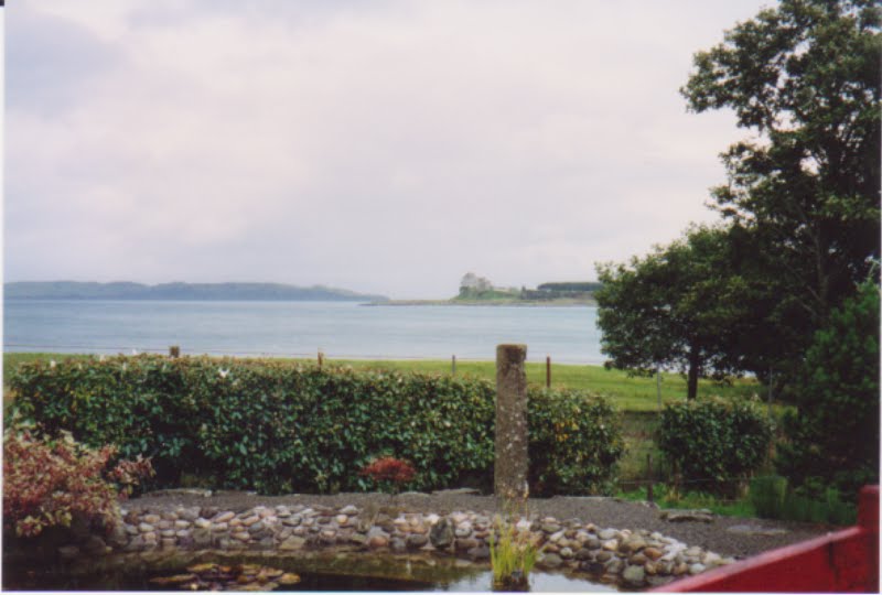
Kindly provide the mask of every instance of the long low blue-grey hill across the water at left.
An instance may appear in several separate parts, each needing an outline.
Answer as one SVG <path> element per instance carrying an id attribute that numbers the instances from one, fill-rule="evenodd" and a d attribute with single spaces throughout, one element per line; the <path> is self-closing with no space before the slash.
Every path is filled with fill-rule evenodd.
<path id="1" fill-rule="evenodd" d="M 79 281 L 19 281 L 3 283 L 7 300 L 194 300 L 194 301 L 347 301 L 383 302 L 385 295 L 313 285 L 281 283 L 114 283 Z"/>

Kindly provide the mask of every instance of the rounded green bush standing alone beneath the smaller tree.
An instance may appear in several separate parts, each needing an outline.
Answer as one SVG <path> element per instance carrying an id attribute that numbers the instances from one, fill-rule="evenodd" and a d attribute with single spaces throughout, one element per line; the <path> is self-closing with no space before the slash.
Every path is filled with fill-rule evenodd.
<path id="1" fill-rule="evenodd" d="M 772 424 L 754 402 L 697 399 L 665 405 L 657 442 L 684 480 L 724 491 L 763 463 L 771 440 Z"/>

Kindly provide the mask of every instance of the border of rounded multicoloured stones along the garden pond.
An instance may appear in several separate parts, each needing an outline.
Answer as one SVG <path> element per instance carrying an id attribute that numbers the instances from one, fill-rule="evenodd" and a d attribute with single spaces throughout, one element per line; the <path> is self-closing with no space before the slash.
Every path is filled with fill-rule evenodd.
<path id="1" fill-rule="evenodd" d="M 90 534 L 63 545 L 63 559 L 116 553 L 195 552 L 295 553 L 337 549 L 420 553 L 490 562 L 493 517 L 472 511 L 449 515 L 389 515 L 347 505 L 255 506 L 243 511 L 206 506 L 148 506 L 121 510 L 108 534 Z M 569 571 L 585 580 L 626 588 L 662 586 L 678 577 L 734 563 L 714 552 L 689 547 L 659 532 L 601 528 L 578 519 L 518 518 L 518 531 L 540 544 L 537 567 Z"/>

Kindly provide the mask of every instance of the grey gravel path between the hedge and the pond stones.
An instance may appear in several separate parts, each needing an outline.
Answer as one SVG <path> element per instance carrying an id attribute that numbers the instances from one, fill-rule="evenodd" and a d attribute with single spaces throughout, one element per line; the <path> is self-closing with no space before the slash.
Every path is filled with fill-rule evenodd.
<path id="1" fill-rule="evenodd" d="M 218 493 L 212 496 L 192 494 L 153 493 L 123 504 L 129 509 L 153 506 L 200 506 L 217 507 L 236 512 L 258 505 L 305 505 L 342 508 L 354 505 L 361 509 L 378 511 L 394 508 L 397 511 L 437 512 L 447 515 L 453 511 L 474 511 L 493 513 L 498 511 L 493 496 L 475 496 L 456 490 L 447 493 L 401 494 L 391 497 L 386 494 L 336 494 L 336 495 L 288 495 L 254 496 L 245 493 Z M 530 515 L 555 517 L 559 520 L 580 519 L 593 522 L 600 528 L 647 529 L 676 538 L 688 545 L 717 552 L 723 556 L 747 558 L 760 552 L 824 536 L 837 530 L 836 527 L 774 521 L 767 519 L 744 519 L 734 517 L 714 517 L 713 521 L 670 522 L 659 518 L 659 510 L 639 502 L 627 502 L 615 498 L 555 497 L 530 498 Z M 779 534 L 744 534 L 728 531 L 735 526 L 761 527 L 763 529 L 784 530 Z"/>

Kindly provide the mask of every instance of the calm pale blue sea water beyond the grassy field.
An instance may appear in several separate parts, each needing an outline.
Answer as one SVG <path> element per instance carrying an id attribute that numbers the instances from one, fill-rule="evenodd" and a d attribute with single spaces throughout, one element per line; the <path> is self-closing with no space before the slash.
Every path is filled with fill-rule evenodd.
<path id="1" fill-rule="evenodd" d="M 492 360 L 496 345 L 524 343 L 531 361 L 600 364 L 595 321 L 592 306 L 8 300 L 3 349 Z"/>

